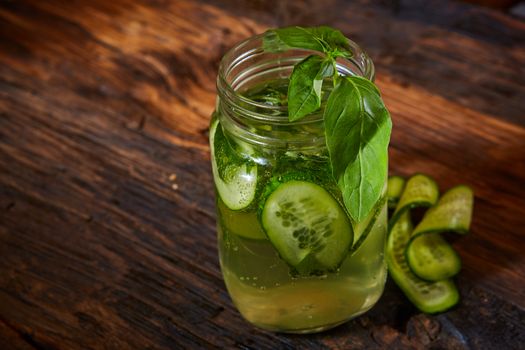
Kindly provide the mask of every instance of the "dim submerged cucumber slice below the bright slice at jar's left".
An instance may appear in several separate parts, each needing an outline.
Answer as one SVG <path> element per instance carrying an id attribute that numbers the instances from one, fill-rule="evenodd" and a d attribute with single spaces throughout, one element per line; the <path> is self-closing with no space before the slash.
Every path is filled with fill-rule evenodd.
<path id="1" fill-rule="evenodd" d="M 256 211 L 231 210 L 221 198 L 217 198 L 221 222 L 229 232 L 249 239 L 267 239 Z"/>

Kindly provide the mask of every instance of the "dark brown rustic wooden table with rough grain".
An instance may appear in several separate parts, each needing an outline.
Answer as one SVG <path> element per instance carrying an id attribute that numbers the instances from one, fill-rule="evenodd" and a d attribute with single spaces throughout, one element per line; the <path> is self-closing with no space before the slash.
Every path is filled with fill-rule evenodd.
<path id="1" fill-rule="evenodd" d="M 247 324 L 222 282 L 207 129 L 218 62 L 268 27 L 365 47 L 391 173 L 475 189 L 462 301 L 389 282 L 326 333 Z M 448 348 L 525 344 L 525 24 L 445 1 L 0 1 L 0 348 Z"/>

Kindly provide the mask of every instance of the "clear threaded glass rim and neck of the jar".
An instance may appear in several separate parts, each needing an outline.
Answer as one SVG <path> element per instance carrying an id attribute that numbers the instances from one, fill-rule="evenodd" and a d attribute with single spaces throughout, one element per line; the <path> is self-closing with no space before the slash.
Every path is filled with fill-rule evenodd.
<path id="1" fill-rule="evenodd" d="M 228 50 L 217 75 L 216 111 L 221 125 L 233 137 L 264 148 L 319 150 L 326 148 L 323 108 L 297 121 L 288 120 L 288 106 L 254 101 L 244 91 L 274 79 L 289 78 L 296 63 L 318 51 L 289 49 L 268 52 L 263 48 L 265 33 L 251 36 Z M 374 79 L 374 64 L 368 55 L 348 39 L 352 56 L 338 58 L 341 75 Z"/>

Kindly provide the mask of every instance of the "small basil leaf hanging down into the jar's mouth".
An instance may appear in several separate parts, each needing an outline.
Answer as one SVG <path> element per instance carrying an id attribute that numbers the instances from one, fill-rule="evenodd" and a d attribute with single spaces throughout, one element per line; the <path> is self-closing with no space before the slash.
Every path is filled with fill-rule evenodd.
<path id="1" fill-rule="evenodd" d="M 321 107 L 323 79 L 332 73 L 332 61 L 318 55 L 294 66 L 288 85 L 288 120 L 299 120 Z"/>

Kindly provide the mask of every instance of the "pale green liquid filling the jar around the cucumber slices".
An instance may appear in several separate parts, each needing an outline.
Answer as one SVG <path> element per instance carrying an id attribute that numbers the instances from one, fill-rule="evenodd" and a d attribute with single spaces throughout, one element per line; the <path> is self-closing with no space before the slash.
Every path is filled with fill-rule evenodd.
<path id="1" fill-rule="evenodd" d="M 268 82 L 252 89 L 246 96 L 271 105 L 286 105 L 286 79 Z M 329 84 L 324 84 L 329 89 Z M 328 94 L 324 94 L 324 99 Z M 320 125 L 285 124 L 253 125 L 254 130 L 284 135 L 292 140 L 296 135 L 322 137 Z M 230 135 L 232 144 L 241 144 Z M 245 147 L 238 147 L 242 152 Z M 342 205 L 341 192 L 331 178 L 329 159 L 325 149 L 308 152 L 271 147 L 257 149 L 253 159 L 258 167 L 258 186 L 264 188 L 271 178 L 290 174 L 315 175 L 315 182 L 325 188 Z M 262 161 L 258 161 L 260 159 Z M 280 181 L 280 180 L 279 180 Z M 266 238 L 256 211 L 263 200 L 258 192 L 251 211 L 233 211 L 218 196 L 218 239 L 221 268 L 226 287 L 241 314 L 258 327 L 272 331 L 311 333 L 334 327 L 369 310 L 383 292 L 387 270 L 384 261 L 387 208 L 385 201 L 375 224 L 363 243 L 349 252 L 337 271 L 323 276 L 291 274 L 291 268 L 280 257 Z M 379 205 L 379 204 L 378 204 Z M 369 219 L 355 225 L 360 236 Z M 358 239 L 354 237 L 354 240 Z M 354 242 L 355 244 L 355 242 Z"/>

